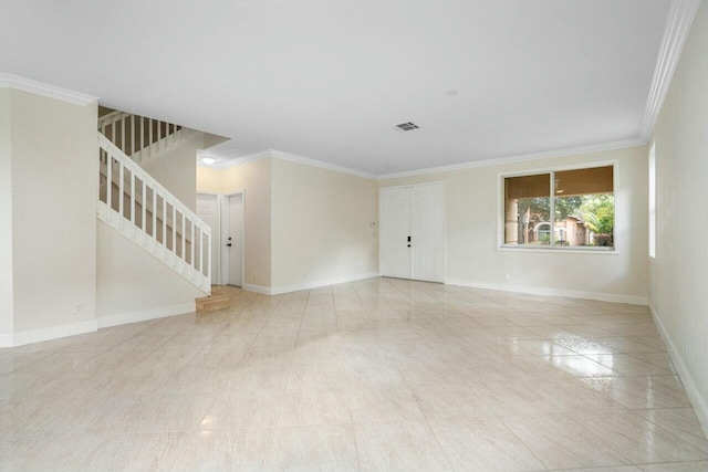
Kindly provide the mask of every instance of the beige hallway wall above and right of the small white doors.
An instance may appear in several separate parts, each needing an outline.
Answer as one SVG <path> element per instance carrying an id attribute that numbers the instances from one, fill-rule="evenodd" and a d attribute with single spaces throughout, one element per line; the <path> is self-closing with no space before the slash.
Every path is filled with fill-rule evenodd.
<path id="1" fill-rule="evenodd" d="M 271 159 L 228 169 L 197 167 L 197 192 L 243 191 L 246 261 L 244 284 L 271 286 Z"/>

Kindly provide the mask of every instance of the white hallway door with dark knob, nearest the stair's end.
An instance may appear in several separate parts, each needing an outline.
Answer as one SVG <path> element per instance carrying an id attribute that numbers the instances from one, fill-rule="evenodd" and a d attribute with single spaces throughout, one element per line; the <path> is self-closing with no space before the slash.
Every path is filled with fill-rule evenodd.
<path id="1" fill-rule="evenodd" d="M 243 192 L 221 199 L 221 285 L 243 285 Z"/>

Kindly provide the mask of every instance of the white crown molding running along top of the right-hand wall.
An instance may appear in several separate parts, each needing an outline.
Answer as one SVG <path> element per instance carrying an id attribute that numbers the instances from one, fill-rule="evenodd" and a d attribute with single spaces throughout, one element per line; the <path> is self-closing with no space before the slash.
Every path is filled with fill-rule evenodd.
<path id="1" fill-rule="evenodd" d="M 639 130 L 639 137 L 644 140 L 648 140 L 654 130 L 654 125 L 662 111 L 664 98 L 666 98 L 668 87 L 671 84 L 674 71 L 676 71 L 676 65 L 699 6 L 700 0 L 671 1 Z"/>

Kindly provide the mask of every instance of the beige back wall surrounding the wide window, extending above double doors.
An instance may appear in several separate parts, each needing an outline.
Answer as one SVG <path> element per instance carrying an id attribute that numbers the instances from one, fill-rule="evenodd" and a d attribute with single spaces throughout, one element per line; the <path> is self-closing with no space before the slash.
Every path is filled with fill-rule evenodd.
<path id="1" fill-rule="evenodd" d="M 499 175 L 618 161 L 615 254 L 498 250 Z M 379 187 L 442 181 L 447 204 L 447 282 L 643 303 L 647 296 L 645 147 L 389 179 Z M 637 210 L 642 209 L 642 210 Z M 509 274 L 509 279 L 507 279 Z"/>

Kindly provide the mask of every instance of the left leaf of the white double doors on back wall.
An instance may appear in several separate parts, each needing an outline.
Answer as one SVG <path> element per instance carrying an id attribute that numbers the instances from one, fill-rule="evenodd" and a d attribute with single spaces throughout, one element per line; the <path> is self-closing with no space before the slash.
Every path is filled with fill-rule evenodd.
<path id="1" fill-rule="evenodd" d="M 379 195 L 382 275 L 410 279 L 410 188 L 383 188 Z"/>

